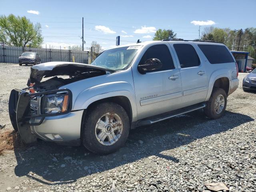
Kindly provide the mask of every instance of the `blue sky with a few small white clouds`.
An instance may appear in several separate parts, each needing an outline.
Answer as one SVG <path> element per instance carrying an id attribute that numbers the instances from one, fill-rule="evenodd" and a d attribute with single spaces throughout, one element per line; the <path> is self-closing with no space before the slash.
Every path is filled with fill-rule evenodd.
<path id="1" fill-rule="evenodd" d="M 256 0 L 1 0 L 0 14 L 26 16 L 42 24 L 44 45 L 67 48 L 92 40 L 112 48 L 152 40 L 159 28 L 172 29 L 178 38 L 198 38 L 206 26 L 240 29 L 256 27 Z"/>

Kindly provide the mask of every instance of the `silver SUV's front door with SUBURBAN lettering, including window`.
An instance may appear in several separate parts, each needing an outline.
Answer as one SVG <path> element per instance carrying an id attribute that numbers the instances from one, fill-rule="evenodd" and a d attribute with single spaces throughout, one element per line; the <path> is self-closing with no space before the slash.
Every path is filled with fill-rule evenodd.
<path id="1" fill-rule="evenodd" d="M 138 64 L 132 66 L 138 119 L 177 109 L 182 102 L 180 71 L 173 60 L 170 46 L 165 42 L 150 46 L 139 64 L 151 58 L 159 59 L 162 68 L 140 74 Z"/>

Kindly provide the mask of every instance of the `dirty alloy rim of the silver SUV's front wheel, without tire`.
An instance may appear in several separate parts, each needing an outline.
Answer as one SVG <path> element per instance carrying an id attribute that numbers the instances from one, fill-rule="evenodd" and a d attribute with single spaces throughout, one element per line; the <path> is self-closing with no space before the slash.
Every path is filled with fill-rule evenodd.
<path id="1" fill-rule="evenodd" d="M 123 132 L 123 123 L 116 113 L 108 112 L 102 115 L 95 126 L 95 136 L 100 144 L 113 145 L 120 139 Z"/>

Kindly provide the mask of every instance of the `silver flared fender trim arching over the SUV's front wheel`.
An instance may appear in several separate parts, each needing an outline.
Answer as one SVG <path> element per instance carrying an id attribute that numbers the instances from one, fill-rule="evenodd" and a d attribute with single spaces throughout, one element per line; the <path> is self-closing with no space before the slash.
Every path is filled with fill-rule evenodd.
<path id="1" fill-rule="evenodd" d="M 88 108 L 95 101 L 114 96 L 125 96 L 132 107 L 132 121 L 137 118 L 136 97 L 133 86 L 128 82 L 110 82 L 87 88 L 76 97 L 73 110 Z"/>

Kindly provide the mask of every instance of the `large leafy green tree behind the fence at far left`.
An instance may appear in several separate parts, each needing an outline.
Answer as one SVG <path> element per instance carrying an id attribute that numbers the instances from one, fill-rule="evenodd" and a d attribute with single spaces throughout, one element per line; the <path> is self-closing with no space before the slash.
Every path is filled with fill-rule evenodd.
<path id="1" fill-rule="evenodd" d="M 40 48 L 43 42 L 41 24 L 33 24 L 25 16 L 0 16 L 0 41 L 8 46 Z"/>

